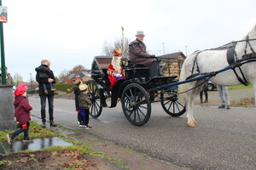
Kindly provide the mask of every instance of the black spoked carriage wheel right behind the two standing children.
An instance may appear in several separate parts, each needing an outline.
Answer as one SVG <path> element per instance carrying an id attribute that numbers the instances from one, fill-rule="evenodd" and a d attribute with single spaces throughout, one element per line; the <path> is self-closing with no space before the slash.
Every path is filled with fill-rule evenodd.
<path id="1" fill-rule="evenodd" d="M 86 82 L 86 85 L 88 86 L 88 92 L 90 92 L 90 99 L 91 99 L 91 105 L 90 105 L 90 116 L 93 118 L 97 118 L 98 116 L 101 116 L 102 114 L 102 103 L 100 98 L 100 91 L 97 87 L 97 84 L 95 81 L 90 80 Z"/>

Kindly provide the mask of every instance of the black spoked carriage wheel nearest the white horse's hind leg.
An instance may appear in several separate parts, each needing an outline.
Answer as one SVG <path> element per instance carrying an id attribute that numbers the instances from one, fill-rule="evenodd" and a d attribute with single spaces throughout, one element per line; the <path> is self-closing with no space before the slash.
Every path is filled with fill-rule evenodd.
<path id="1" fill-rule="evenodd" d="M 170 116 L 182 116 L 186 111 L 185 105 L 177 100 L 177 90 L 160 94 L 161 105 Z"/>

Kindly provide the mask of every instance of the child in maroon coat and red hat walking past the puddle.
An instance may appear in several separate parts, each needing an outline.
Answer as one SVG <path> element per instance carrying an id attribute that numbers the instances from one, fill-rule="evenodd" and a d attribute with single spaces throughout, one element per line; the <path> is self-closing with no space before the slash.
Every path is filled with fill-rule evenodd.
<path id="1" fill-rule="evenodd" d="M 20 87 L 15 89 L 15 117 L 19 128 L 14 133 L 7 134 L 7 142 L 12 144 L 13 139 L 20 133 L 24 133 L 23 142 L 32 142 L 29 138 L 28 131 L 31 121 L 32 106 L 28 103 L 26 99 L 26 88 Z"/>

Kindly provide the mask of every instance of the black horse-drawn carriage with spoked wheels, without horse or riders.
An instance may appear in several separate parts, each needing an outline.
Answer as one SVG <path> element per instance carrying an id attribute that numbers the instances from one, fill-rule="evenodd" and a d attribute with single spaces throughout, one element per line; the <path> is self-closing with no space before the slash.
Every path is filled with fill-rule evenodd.
<path id="1" fill-rule="evenodd" d="M 111 59 L 111 56 L 96 56 L 92 62 L 93 80 L 86 82 L 92 100 L 90 116 L 96 118 L 101 115 L 102 108 L 108 106 L 106 99 L 111 99 L 110 108 L 115 107 L 120 99 L 125 117 L 135 126 L 143 126 L 148 122 L 153 102 L 160 102 L 170 116 L 183 115 L 185 107 L 178 101 L 177 86 L 156 89 L 177 82 L 177 76 L 151 78 L 148 67 L 133 65 L 130 62 L 128 64 L 124 59 L 120 65 L 125 70 L 125 79 L 115 82 L 113 88 L 109 88 L 107 71 Z"/>

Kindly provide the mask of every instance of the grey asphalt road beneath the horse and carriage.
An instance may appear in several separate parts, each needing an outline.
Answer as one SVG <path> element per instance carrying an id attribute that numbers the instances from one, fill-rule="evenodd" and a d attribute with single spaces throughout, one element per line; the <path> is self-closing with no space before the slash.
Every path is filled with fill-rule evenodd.
<path id="1" fill-rule="evenodd" d="M 32 114 L 40 116 L 39 99 L 29 100 Z M 152 107 L 152 115 L 143 127 L 131 125 L 120 104 L 103 108 L 102 116 L 90 119 L 94 128 L 86 133 L 181 167 L 256 169 L 256 108 L 218 110 L 217 106 L 195 106 L 197 127 L 186 127 L 185 115 L 171 117 L 160 104 Z M 55 99 L 55 122 L 80 128 L 73 100 Z"/>

